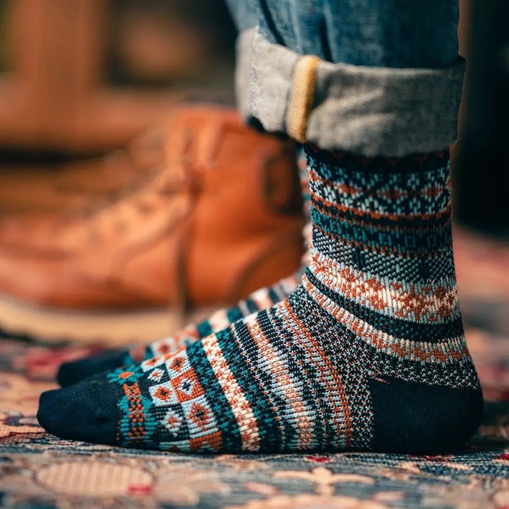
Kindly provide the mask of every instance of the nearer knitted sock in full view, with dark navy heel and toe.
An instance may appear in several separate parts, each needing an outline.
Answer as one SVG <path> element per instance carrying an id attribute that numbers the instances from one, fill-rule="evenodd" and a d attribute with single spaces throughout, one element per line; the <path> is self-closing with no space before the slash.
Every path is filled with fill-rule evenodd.
<path id="1" fill-rule="evenodd" d="M 43 428 L 192 452 L 435 453 L 474 433 L 448 152 L 306 150 L 313 245 L 295 292 L 176 354 L 43 393 Z"/>

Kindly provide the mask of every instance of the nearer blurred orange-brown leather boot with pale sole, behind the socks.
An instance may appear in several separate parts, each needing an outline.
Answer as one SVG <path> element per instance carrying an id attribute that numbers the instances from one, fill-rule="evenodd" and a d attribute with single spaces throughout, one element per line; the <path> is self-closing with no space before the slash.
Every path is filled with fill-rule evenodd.
<path id="1" fill-rule="evenodd" d="M 291 274 L 302 254 L 295 146 L 233 109 L 184 106 L 144 187 L 83 217 L 0 223 L 0 327 L 153 340 Z"/>

